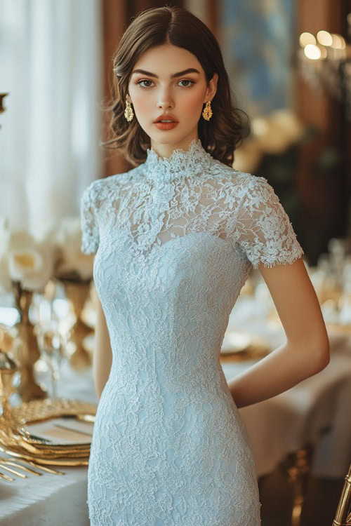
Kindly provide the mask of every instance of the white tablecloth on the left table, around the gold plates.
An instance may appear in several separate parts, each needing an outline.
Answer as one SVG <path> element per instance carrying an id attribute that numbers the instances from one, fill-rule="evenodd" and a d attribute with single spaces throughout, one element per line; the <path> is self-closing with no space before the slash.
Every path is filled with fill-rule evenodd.
<path id="1" fill-rule="evenodd" d="M 58 396 L 97 403 L 91 368 L 77 374 L 68 365 L 62 367 Z M 0 456 L 8 457 L 1 452 Z M 63 471 L 65 475 L 43 471 L 44 475 L 38 477 L 19 469 L 17 471 L 27 475 L 22 479 L 0 466 L 1 473 L 15 479 L 14 482 L 0 479 L 0 526 L 89 525 L 87 466 L 48 467 Z"/>

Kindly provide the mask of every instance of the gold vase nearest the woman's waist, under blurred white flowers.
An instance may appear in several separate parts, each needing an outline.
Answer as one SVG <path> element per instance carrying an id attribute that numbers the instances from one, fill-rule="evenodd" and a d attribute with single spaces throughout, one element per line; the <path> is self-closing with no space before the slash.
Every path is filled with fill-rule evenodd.
<path id="1" fill-rule="evenodd" d="M 69 342 L 73 342 L 74 351 L 69 356 L 69 363 L 74 369 L 84 369 L 91 365 L 91 353 L 83 346 L 83 340 L 91 332 L 91 328 L 81 320 L 81 311 L 88 299 L 90 292 L 90 281 L 73 281 L 61 278 L 60 281 L 65 287 L 67 299 L 72 304 L 76 321 L 69 331 Z"/>

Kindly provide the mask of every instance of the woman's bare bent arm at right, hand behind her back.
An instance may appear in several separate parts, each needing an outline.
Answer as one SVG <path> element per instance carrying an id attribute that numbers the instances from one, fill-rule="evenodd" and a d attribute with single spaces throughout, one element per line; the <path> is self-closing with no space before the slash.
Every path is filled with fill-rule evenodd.
<path id="1" fill-rule="evenodd" d="M 282 321 L 286 343 L 228 382 L 238 408 L 283 393 L 329 363 L 326 326 L 302 257 L 293 264 L 258 268 Z"/>

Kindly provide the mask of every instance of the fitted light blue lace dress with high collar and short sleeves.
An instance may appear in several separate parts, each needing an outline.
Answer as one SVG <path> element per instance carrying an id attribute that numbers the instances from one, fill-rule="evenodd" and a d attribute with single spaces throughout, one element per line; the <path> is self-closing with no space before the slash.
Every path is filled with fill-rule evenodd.
<path id="1" fill-rule="evenodd" d="M 88 466 L 91 525 L 260 525 L 220 348 L 251 268 L 303 254 L 277 195 L 193 140 L 92 182 L 81 228 L 113 355 Z"/>

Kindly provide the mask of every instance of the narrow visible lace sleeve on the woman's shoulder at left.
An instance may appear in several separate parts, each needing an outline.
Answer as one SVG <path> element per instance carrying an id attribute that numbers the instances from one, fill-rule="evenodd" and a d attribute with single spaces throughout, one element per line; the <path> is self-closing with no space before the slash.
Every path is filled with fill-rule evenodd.
<path id="1" fill-rule="evenodd" d="M 95 181 L 84 190 L 81 196 L 81 252 L 84 254 L 96 252 L 100 241 L 94 189 Z"/>

